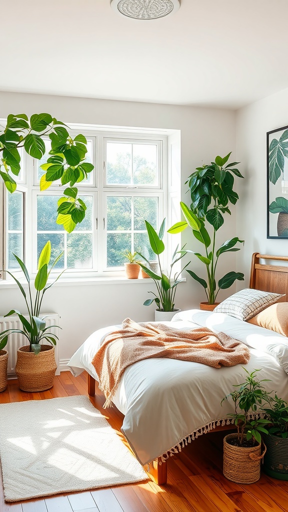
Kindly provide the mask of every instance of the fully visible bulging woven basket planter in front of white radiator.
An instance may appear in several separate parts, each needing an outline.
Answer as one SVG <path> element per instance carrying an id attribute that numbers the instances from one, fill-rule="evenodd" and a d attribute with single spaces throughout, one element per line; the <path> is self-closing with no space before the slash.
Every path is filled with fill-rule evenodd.
<path id="1" fill-rule="evenodd" d="M 41 345 L 37 355 L 30 352 L 29 345 L 17 350 L 15 372 L 22 391 L 45 391 L 52 388 L 56 368 L 54 347 L 51 345 Z"/>

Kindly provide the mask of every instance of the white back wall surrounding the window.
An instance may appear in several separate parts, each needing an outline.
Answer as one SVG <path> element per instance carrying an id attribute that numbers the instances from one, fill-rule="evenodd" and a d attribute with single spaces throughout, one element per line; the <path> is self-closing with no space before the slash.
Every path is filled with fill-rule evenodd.
<path id="1" fill-rule="evenodd" d="M 181 130 L 182 201 L 188 202 L 184 185 L 195 167 L 224 156 L 229 151 L 235 154 L 235 113 L 229 110 L 201 107 L 175 106 L 122 101 L 106 101 L 60 96 L 0 93 L 0 118 L 10 113 L 48 112 L 53 116 L 74 123 L 89 123 L 116 126 L 140 126 L 154 129 Z M 236 211 L 228 216 L 219 232 L 219 245 L 235 236 Z M 239 233 L 237 233 L 239 234 Z M 183 242 L 188 248 L 198 250 L 192 235 L 187 230 Z M 236 253 L 225 254 L 219 267 L 219 277 L 235 270 Z M 192 256 L 196 273 L 203 274 L 203 266 Z M 222 272 L 222 273 L 221 273 Z M 220 275 L 221 274 L 221 275 Z M 119 323 L 126 316 L 135 321 L 151 321 L 153 307 L 142 306 L 153 283 L 131 282 L 128 284 L 107 283 L 59 285 L 47 292 L 43 311 L 54 311 L 61 316 L 60 360 L 67 360 L 84 342 L 85 338 L 99 327 Z M 222 296 L 227 296 L 229 291 Z M 176 294 L 176 305 L 181 309 L 197 307 L 205 300 L 203 289 L 188 276 Z M 23 309 L 23 302 L 16 289 L 1 289 L 0 315 L 11 308 Z"/>

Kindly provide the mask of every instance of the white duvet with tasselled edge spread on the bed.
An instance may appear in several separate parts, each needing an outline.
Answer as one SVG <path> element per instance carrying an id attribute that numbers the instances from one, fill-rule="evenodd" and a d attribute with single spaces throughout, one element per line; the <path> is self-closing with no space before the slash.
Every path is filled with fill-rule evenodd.
<path id="1" fill-rule="evenodd" d="M 165 322 L 170 324 L 170 322 Z M 288 400 L 288 338 L 242 322 L 223 313 L 183 311 L 172 320 L 174 328 L 208 327 L 239 339 L 250 348 L 246 370 L 261 369 L 269 391 Z M 118 325 L 95 331 L 75 352 L 68 366 L 76 376 L 87 370 L 96 380 L 91 360 L 104 337 Z M 242 366 L 211 368 L 176 359 L 145 359 L 128 367 L 113 403 L 124 415 L 121 431 L 141 464 L 180 449 L 187 439 L 211 430 L 233 413 L 233 403 L 222 398 L 245 380 Z M 224 424 L 224 423 L 223 423 Z"/>

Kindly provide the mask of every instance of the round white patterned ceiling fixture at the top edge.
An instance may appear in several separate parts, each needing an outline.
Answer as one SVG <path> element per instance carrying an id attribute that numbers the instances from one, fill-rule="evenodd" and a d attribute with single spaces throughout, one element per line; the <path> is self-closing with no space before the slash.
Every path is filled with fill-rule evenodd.
<path id="1" fill-rule="evenodd" d="M 168 16 L 180 7 L 178 0 L 112 0 L 111 7 L 134 19 L 156 19 Z"/>

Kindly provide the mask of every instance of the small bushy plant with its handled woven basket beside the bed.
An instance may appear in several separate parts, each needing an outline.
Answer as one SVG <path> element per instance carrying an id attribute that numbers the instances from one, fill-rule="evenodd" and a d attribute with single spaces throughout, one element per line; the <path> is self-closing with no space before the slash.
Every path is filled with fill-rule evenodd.
<path id="1" fill-rule="evenodd" d="M 232 398 L 235 413 L 231 414 L 237 426 L 237 434 L 228 434 L 223 441 L 223 474 L 228 480 L 237 483 L 253 483 L 260 478 L 261 435 L 268 434 L 266 425 L 269 420 L 261 418 L 259 407 L 270 402 L 271 397 L 257 377 L 259 370 L 247 373 L 236 390 L 223 400 Z M 222 400 L 222 401 L 223 401 Z"/>

